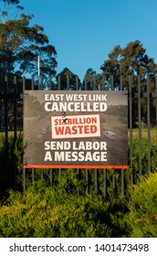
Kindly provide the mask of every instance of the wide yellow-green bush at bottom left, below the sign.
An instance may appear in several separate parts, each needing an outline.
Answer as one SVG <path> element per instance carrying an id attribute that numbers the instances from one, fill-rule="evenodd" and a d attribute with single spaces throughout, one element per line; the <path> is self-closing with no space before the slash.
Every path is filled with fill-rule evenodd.
<path id="1" fill-rule="evenodd" d="M 10 192 L 0 208 L 0 237 L 110 237 L 108 208 L 102 197 L 37 183 L 26 194 Z"/>

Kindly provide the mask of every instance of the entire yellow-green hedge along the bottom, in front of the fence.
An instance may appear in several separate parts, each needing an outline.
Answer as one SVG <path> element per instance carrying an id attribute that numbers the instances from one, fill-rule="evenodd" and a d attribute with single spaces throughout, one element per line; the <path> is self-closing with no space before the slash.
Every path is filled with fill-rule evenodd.
<path id="1" fill-rule="evenodd" d="M 157 237 L 157 173 L 130 188 L 130 200 L 69 194 L 37 182 L 26 193 L 10 191 L 0 206 L 0 237 Z M 123 201 L 124 204 L 125 201 Z"/>

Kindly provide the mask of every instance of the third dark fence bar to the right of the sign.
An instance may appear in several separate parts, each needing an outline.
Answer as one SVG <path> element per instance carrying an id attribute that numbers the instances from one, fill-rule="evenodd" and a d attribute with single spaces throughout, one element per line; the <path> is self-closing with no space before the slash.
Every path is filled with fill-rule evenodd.
<path id="1" fill-rule="evenodd" d="M 151 118 L 150 118 L 150 79 L 147 77 L 147 128 L 148 128 L 148 170 L 151 172 Z"/>

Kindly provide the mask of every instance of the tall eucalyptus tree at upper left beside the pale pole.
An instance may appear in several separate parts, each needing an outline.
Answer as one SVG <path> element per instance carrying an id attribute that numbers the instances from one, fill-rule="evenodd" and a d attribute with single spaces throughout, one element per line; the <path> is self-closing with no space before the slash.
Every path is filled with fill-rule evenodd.
<path id="1" fill-rule="evenodd" d="M 57 51 L 49 44 L 44 28 L 31 26 L 33 15 L 22 14 L 19 0 L 0 0 L 0 73 L 55 76 Z"/>

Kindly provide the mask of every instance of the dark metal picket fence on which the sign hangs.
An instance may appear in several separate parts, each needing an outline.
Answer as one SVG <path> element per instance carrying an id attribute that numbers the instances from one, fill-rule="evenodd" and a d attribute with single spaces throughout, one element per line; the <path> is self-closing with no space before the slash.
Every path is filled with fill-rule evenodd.
<path id="1" fill-rule="evenodd" d="M 84 179 L 85 193 L 88 194 L 90 190 L 94 190 L 96 194 L 103 194 L 104 198 L 108 198 L 108 194 L 112 193 L 113 197 L 116 196 L 118 190 L 122 195 L 125 194 L 126 183 L 130 180 L 131 184 L 135 183 L 137 177 L 157 170 L 157 77 L 151 76 L 147 78 L 141 78 L 140 76 L 130 76 L 128 78 L 119 79 L 110 76 L 110 79 L 101 77 L 94 77 L 93 80 L 85 78 L 81 84 L 76 77 L 75 82 L 71 84 L 70 79 L 67 77 L 67 88 L 62 87 L 62 78 L 58 76 L 56 83 L 52 82 L 51 78 L 44 83 L 42 77 L 37 81 L 32 77 L 30 80 L 26 80 L 25 77 L 17 78 L 5 76 L 4 80 L 0 82 L 0 129 L 1 129 L 1 141 L 4 140 L 4 155 L 1 157 L 1 169 L 3 168 L 3 175 L 0 184 L 1 190 L 6 190 L 10 187 L 14 189 L 22 189 L 26 191 L 26 176 L 29 176 L 29 180 L 35 181 L 38 178 L 38 172 L 40 172 L 40 178 L 45 178 L 44 170 L 36 169 L 23 169 L 23 181 L 22 187 L 17 186 L 17 156 L 14 155 L 14 159 L 10 159 L 10 144 L 9 144 L 9 132 L 13 131 L 13 141 L 16 143 L 17 132 L 23 130 L 23 93 L 24 90 L 128 90 L 128 143 L 129 143 L 129 169 L 120 170 L 108 170 L 108 169 L 75 169 L 75 170 L 52 170 L 49 169 L 48 179 L 49 185 L 53 186 L 54 173 L 58 174 L 58 180 L 62 179 L 62 176 L 66 174 L 68 177 L 67 182 L 70 184 L 70 172 L 75 173 L 78 181 Z M 136 131 L 136 138 L 134 138 L 134 131 Z M 146 138 L 147 148 L 146 154 L 143 153 L 142 148 L 142 136 Z M 153 133 L 153 141 L 152 141 Z M 136 155 L 135 155 L 136 151 Z M 144 151 L 145 152 L 145 151 Z M 1 151 L 2 154 L 2 151 Z M 152 158 L 152 155 L 154 156 Z M 2 159 L 3 158 L 3 159 Z M 144 162 L 143 162 L 144 161 Z M 3 162 L 3 163 L 2 163 Z M 14 166 L 14 168 L 13 168 Z M 111 185 L 110 185 L 111 184 Z M 108 187 L 111 187 L 111 192 Z M 81 189 L 77 185 L 78 193 L 81 193 Z"/>

